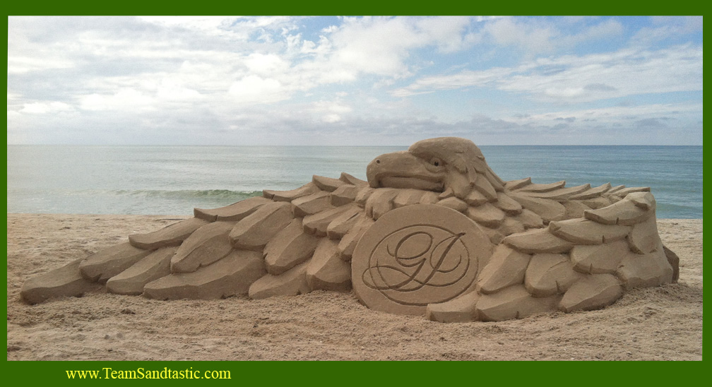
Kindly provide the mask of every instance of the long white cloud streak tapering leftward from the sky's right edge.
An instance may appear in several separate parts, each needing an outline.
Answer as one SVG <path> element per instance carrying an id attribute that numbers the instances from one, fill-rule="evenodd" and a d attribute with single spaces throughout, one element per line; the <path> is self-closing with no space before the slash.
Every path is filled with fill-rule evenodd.
<path id="1" fill-rule="evenodd" d="M 553 68 L 556 70 L 551 71 Z M 511 68 L 425 77 L 392 90 L 392 95 L 408 97 L 471 87 L 521 92 L 532 100 L 545 102 L 590 102 L 627 95 L 702 90 L 702 48 L 684 45 L 657 51 L 623 49 L 540 58 Z"/>

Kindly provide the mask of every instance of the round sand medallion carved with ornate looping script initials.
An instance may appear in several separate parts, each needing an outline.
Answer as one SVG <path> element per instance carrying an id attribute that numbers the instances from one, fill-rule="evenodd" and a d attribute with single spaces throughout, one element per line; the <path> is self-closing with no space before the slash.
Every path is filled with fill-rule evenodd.
<path id="1" fill-rule="evenodd" d="M 351 261 L 356 297 L 397 314 L 425 313 L 473 290 L 481 260 L 493 250 L 467 216 L 445 206 L 397 208 L 361 237 Z"/>

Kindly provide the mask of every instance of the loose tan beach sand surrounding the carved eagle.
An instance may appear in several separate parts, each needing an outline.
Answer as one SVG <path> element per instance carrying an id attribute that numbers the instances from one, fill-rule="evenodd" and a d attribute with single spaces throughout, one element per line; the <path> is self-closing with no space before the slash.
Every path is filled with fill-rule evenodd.
<path id="1" fill-rule="evenodd" d="M 658 221 L 677 284 L 597 311 L 441 324 L 349 293 L 156 301 L 95 292 L 23 304 L 33 275 L 184 216 L 8 214 L 8 360 L 701 360 L 702 220 Z"/>

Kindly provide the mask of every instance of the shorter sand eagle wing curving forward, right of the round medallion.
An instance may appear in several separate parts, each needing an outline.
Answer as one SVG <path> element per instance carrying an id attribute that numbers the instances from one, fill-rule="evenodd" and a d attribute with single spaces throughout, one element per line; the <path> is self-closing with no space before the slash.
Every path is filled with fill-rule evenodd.
<path id="1" fill-rule="evenodd" d="M 429 305 L 429 319 L 501 321 L 600 309 L 624 290 L 677 280 L 677 257 L 659 238 L 649 188 L 566 188 L 563 181 L 521 179 L 507 181 L 501 194 L 520 203 L 518 217 L 529 213 L 533 227 L 503 236 L 476 291 Z M 506 234 L 501 226 L 483 229 L 496 238 Z"/>

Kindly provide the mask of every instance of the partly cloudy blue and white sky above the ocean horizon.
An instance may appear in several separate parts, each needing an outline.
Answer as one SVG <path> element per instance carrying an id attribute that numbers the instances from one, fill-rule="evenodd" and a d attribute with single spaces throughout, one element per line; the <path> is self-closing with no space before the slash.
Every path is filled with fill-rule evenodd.
<path id="1" fill-rule="evenodd" d="M 11 16 L 8 144 L 702 144 L 702 17 Z"/>

